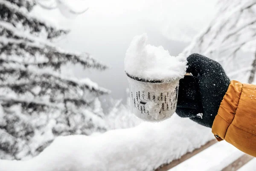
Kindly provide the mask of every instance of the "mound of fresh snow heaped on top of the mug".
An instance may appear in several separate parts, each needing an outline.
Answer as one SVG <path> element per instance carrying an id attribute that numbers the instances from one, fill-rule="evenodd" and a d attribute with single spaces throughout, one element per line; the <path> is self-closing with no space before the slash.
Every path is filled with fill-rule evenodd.
<path id="1" fill-rule="evenodd" d="M 125 55 L 125 72 L 132 77 L 163 82 L 183 78 L 186 73 L 186 57 L 171 56 L 163 46 L 147 44 L 146 33 L 133 38 Z"/>

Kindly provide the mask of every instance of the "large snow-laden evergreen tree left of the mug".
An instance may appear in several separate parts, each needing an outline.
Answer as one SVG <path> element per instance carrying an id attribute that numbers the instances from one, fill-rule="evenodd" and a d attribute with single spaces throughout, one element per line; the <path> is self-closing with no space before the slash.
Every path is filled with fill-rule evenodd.
<path id="1" fill-rule="evenodd" d="M 0 158 L 34 156 L 58 135 L 104 130 L 100 95 L 89 78 L 61 74 L 66 64 L 105 70 L 89 54 L 52 40 L 68 34 L 29 13 L 34 0 L 0 0 Z"/>

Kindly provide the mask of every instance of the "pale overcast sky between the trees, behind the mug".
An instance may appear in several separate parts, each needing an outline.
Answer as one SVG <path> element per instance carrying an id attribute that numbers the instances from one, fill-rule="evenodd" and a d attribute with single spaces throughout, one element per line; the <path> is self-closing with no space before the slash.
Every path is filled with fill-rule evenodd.
<path id="1" fill-rule="evenodd" d="M 112 68 L 98 72 L 69 67 L 68 74 L 89 77 L 124 98 L 128 82 L 124 74 L 125 51 L 135 35 L 148 33 L 149 41 L 177 55 L 203 29 L 215 12 L 216 0 L 72 0 L 72 9 L 89 10 L 77 17 L 64 18 L 59 10 L 36 8 L 49 20 L 71 32 L 56 44 L 67 50 L 89 52 Z M 71 3 L 72 2 L 72 3 Z"/>

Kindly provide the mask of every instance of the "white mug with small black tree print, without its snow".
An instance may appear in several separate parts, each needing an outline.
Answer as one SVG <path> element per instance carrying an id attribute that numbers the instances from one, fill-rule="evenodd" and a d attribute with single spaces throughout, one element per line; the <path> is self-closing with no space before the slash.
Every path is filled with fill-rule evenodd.
<path id="1" fill-rule="evenodd" d="M 131 110 L 145 121 L 170 118 L 177 107 L 179 79 L 169 82 L 138 81 L 128 76 Z"/>

